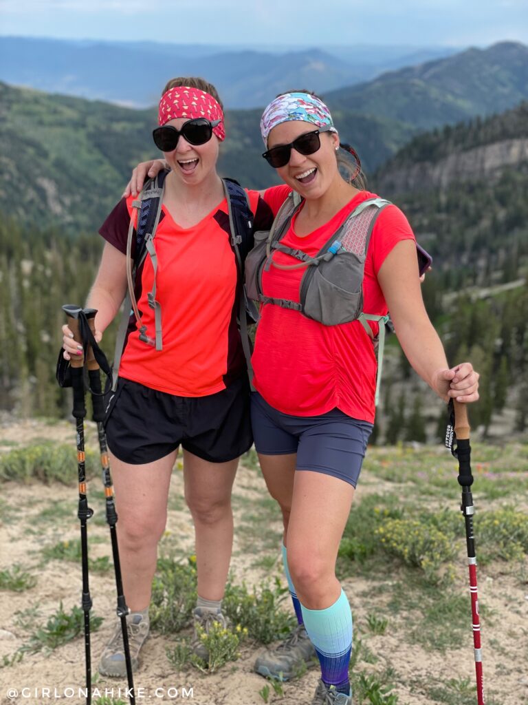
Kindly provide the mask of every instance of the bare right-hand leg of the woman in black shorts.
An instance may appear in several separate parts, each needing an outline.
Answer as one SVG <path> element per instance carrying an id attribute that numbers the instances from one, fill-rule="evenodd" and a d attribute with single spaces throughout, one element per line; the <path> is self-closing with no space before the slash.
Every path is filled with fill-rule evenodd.
<path id="1" fill-rule="evenodd" d="M 198 594 L 221 600 L 233 547 L 231 491 L 239 461 L 208 462 L 187 450 L 183 459 L 185 500 L 196 532 Z"/>

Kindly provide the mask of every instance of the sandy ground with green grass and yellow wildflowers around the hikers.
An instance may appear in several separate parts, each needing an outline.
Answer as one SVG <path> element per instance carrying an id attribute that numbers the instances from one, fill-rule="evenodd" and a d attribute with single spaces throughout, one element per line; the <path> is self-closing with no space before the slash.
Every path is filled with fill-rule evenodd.
<path id="1" fill-rule="evenodd" d="M 87 427 L 95 673 L 113 629 L 115 583 L 96 434 L 93 424 Z M 528 446 L 475 443 L 472 468 L 486 703 L 520 705 L 528 703 Z M 232 627 L 203 636 L 208 663 L 191 656 L 196 570 L 181 470 L 177 461 L 153 581 L 153 635 L 136 687 L 191 684 L 194 701 L 204 705 L 309 702 L 317 668 L 287 683 L 252 672 L 258 651 L 294 625 L 279 559 L 279 510 L 253 450 L 242 459 L 233 494 L 235 543 L 224 602 Z M 358 705 L 477 701 L 457 472 L 441 446 L 367 452 L 338 560 L 353 607 L 351 680 Z M 0 680 L 7 685 L 84 682 L 76 473 L 69 424 L 32 421 L 1 429 Z M 103 686 L 116 683 L 96 675 L 94 687 L 102 692 Z M 2 705 L 32 702 L 2 697 Z M 121 701 L 96 699 L 99 705 Z"/>

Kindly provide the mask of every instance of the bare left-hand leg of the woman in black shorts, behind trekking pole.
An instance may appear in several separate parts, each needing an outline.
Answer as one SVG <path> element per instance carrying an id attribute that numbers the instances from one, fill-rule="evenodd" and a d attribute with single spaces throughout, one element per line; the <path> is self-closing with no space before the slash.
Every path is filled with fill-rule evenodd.
<path id="1" fill-rule="evenodd" d="M 133 612 L 148 607 L 151 601 L 176 456 L 177 450 L 144 465 L 130 465 L 112 456 L 122 582 L 127 606 Z"/>

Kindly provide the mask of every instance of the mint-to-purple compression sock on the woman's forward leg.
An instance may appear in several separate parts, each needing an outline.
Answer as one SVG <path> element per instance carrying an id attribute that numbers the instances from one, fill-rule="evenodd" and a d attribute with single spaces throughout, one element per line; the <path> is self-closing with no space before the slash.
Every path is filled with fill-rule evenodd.
<path id="1" fill-rule="evenodd" d="M 348 694 L 348 664 L 352 653 L 352 613 L 346 594 L 325 610 L 309 610 L 302 606 L 304 626 L 315 646 L 321 664 L 321 679 Z"/>

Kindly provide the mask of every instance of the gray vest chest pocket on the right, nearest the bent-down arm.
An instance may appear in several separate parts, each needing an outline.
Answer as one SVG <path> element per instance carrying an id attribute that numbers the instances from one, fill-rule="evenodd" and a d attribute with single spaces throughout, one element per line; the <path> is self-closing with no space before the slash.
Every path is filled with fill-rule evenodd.
<path id="1" fill-rule="evenodd" d="M 329 262 L 310 267 L 301 284 L 303 314 L 325 326 L 355 321 L 363 311 L 363 265 L 353 252 L 339 252 Z"/>

